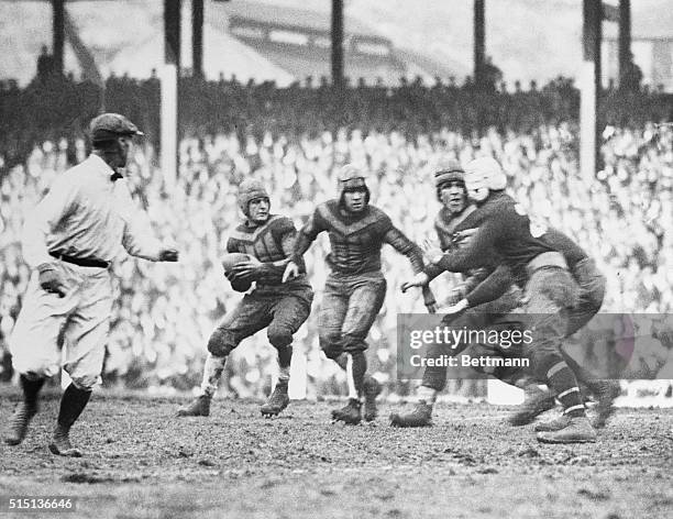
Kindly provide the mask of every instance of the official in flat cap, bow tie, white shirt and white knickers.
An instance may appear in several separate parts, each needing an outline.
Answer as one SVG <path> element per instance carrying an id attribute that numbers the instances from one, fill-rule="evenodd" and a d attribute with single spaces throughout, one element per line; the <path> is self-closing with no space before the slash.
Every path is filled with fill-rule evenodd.
<path id="1" fill-rule="evenodd" d="M 102 371 L 112 308 L 109 267 L 121 245 L 153 262 L 178 260 L 177 251 L 156 240 L 120 173 L 133 136 L 142 132 L 122 115 L 103 113 L 91 121 L 90 134 L 91 155 L 59 175 L 26 219 L 23 257 L 33 274 L 10 340 L 23 401 L 4 441 L 18 445 L 37 412 L 44 380 L 62 367 L 58 338 L 64 334 L 63 368 L 71 384 L 49 450 L 65 456 L 81 456 L 68 433 Z"/>

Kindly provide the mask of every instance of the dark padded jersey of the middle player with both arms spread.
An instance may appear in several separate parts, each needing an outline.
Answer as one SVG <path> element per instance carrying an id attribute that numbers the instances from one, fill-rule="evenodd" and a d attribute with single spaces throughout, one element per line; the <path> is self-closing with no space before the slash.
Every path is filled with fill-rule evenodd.
<path id="1" fill-rule="evenodd" d="M 423 268 L 420 247 L 393 225 L 385 212 L 367 206 L 362 213 L 347 214 L 340 210 L 338 200 L 329 200 L 316 208 L 299 232 L 293 262 L 299 264 L 304 253 L 323 231 L 330 238 L 331 252 L 327 262 L 332 272 L 362 274 L 380 270 L 380 250 L 384 243 L 408 256 L 413 272 Z"/>

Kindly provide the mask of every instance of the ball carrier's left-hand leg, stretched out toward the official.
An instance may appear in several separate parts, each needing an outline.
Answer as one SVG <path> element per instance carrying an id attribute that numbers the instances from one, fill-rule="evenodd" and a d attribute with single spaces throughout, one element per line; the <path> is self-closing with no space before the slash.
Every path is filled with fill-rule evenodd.
<path id="1" fill-rule="evenodd" d="M 207 417 L 218 390 L 227 356 L 245 338 L 254 335 L 271 322 L 272 302 L 250 294 L 224 316 L 208 340 L 208 356 L 203 365 L 200 395 L 177 411 L 178 417 Z"/>

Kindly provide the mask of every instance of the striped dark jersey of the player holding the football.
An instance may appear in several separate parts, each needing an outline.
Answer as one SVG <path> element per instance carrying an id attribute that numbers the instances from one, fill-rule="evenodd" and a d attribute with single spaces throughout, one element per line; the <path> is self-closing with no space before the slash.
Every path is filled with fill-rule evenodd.
<path id="1" fill-rule="evenodd" d="M 249 221 L 241 223 L 227 242 L 227 252 L 240 252 L 267 264 L 267 273 L 257 279 L 257 285 L 279 285 L 285 266 L 289 262 L 297 238 L 294 222 L 279 214 L 271 214 L 262 225 Z M 286 286 L 308 285 L 305 276 L 293 279 Z"/>

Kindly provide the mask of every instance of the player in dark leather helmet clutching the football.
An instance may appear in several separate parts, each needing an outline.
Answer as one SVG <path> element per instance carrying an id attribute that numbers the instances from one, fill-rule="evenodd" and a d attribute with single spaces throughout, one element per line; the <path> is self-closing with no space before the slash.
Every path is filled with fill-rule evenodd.
<path id="1" fill-rule="evenodd" d="M 241 341 L 264 328 L 268 341 L 278 351 L 279 375 L 273 394 L 262 406 L 262 415 L 276 416 L 289 404 L 293 335 L 310 313 L 313 291 L 304 274 L 282 283 L 297 230 L 289 218 L 269 212 L 268 192 L 258 180 L 241 183 L 239 207 L 245 219 L 227 243 L 230 255 L 223 262 L 225 275 L 238 291 L 249 291 L 253 281 L 255 288 L 243 296 L 212 332 L 201 394 L 178 410 L 179 417 L 210 415 L 210 402 L 227 356 Z"/>

